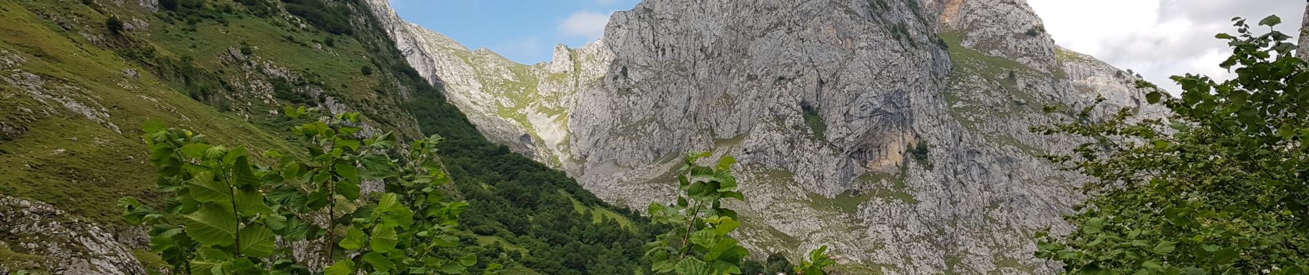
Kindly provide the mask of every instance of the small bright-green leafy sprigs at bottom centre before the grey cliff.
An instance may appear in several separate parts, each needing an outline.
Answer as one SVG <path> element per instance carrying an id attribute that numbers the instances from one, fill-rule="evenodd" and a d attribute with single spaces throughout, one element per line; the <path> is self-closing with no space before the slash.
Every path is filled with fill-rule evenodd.
<path id="1" fill-rule="evenodd" d="M 736 190 L 737 180 L 732 176 L 736 159 L 724 156 L 713 167 L 695 164 L 707 156 L 709 152 L 691 152 L 683 158 L 675 203 L 651 203 L 648 207 L 651 222 L 673 227 L 645 245 L 645 257 L 654 274 L 742 274 L 742 262 L 750 257 L 750 252 L 729 236 L 741 227 L 737 212 L 723 207 L 724 198 L 745 199 Z M 795 274 L 826 275 L 822 268 L 835 263 L 826 250 L 827 246 L 822 246 L 810 252 L 809 259 L 793 267 Z"/>

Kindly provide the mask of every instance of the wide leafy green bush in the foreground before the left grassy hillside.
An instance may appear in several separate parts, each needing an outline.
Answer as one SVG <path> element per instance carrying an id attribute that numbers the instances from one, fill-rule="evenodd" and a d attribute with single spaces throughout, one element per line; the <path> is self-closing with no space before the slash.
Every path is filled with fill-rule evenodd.
<path id="1" fill-rule="evenodd" d="M 323 244 L 309 257 L 331 263 L 329 275 L 463 274 L 476 258 L 449 249 L 459 245 L 453 232 L 467 203 L 441 190 L 450 181 L 436 156 L 441 138 L 418 139 L 407 162 L 393 159 L 395 138 L 361 138 L 357 116 L 296 126 L 310 141 L 308 160 L 268 151 L 274 167 L 255 164 L 245 146 L 147 121 L 158 188 L 173 197 L 162 210 L 123 198 L 124 218 L 149 224 L 151 250 L 182 274 L 310 274 L 279 239 Z M 385 190 L 364 194 L 365 181 Z"/>

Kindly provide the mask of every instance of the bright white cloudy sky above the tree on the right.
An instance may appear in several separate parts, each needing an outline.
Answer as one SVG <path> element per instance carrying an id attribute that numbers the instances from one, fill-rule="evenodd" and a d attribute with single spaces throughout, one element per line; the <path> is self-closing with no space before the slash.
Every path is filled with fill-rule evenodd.
<path id="1" fill-rule="evenodd" d="M 1234 33 L 1232 17 L 1254 25 L 1268 14 L 1276 30 L 1297 35 L 1305 3 L 1300 0 L 1029 0 L 1055 43 L 1096 56 L 1179 93 L 1170 76 L 1200 73 L 1219 80 L 1230 74 L 1217 64 L 1230 55 L 1217 33 Z M 1261 29 L 1257 29 L 1261 30 Z"/>

